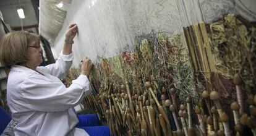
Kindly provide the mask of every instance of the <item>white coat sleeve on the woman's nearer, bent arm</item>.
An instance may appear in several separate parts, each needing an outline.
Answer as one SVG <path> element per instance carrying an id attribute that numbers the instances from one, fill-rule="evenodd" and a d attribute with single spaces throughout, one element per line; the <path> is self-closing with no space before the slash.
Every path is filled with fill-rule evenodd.
<path id="1" fill-rule="evenodd" d="M 89 80 L 80 75 L 66 88 L 62 82 L 49 82 L 40 75 L 30 75 L 20 88 L 28 108 L 33 111 L 65 111 L 80 103 L 89 91 Z"/>

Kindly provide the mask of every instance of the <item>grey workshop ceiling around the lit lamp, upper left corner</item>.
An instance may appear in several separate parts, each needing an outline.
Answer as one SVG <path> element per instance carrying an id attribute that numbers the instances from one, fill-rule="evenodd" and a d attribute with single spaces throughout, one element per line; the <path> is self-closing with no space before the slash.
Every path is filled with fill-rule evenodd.
<path id="1" fill-rule="evenodd" d="M 17 9 L 22 7 L 25 19 L 19 19 Z M 0 11 L 4 22 L 11 27 L 12 30 L 27 30 L 29 32 L 38 33 L 39 22 L 39 0 L 1 0 Z"/>

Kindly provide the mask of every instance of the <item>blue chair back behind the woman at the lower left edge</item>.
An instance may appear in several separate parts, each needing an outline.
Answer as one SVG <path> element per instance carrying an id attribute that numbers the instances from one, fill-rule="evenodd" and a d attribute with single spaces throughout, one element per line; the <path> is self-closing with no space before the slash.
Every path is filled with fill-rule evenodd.
<path id="1" fill-rule="evenodd" d="M 12 120 L 11 116 L 4 111 L 4 109 L 0 106 L 0 134 L 6 129 L 6 126 Z"/>

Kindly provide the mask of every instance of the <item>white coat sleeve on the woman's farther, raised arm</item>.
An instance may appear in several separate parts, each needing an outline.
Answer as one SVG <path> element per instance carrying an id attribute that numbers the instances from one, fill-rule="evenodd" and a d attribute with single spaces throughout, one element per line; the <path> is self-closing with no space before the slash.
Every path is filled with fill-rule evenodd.
<path id="1" fill-rule="evenodd" d="M 44 70 L 49 74 L 58 77 L 59 79 L 64 79 L 66 77 L 67 70 L 72 65 L 73 53 L 69 55 L 64 55 L 61 51 L 57 61 L 54 64 L 49 64 L 45 67 L 37 67 L 37 69 Z"/>

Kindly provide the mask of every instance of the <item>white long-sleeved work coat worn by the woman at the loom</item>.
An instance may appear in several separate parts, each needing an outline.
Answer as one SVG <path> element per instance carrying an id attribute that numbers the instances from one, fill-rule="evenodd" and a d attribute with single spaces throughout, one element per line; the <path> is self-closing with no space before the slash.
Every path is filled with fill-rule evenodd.
<path id="1" fill-rule="evenodd" d="M 75 128 L 79 122 L 70 108 L 89 92 L 89 80 L 80 75 L 66 88 L 58 79 L 66 75 L 73 54 L 60 54 L 55 64 L 37 67 L 41 74 L 23 66 L 12 66 L 7 81 L 7 103 L 17 122 L 15 136 L 88 135 Z"/>

